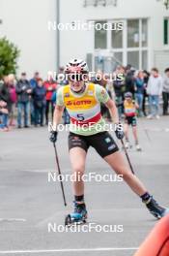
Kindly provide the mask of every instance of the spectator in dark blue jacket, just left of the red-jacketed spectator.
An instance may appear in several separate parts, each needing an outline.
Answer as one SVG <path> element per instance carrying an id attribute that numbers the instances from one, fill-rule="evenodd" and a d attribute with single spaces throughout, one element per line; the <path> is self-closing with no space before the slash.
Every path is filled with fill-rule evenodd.
<path id="1" fill-rule="evenodd" d="M 32 98 L 35 110 L 35 126 L 39 123 L 43 126 L 43 116 L 45 109 L 45 94 L 46 89 L 42 84 L 42 79 L 38 80 L 37 86 L 33 89 Z"/>

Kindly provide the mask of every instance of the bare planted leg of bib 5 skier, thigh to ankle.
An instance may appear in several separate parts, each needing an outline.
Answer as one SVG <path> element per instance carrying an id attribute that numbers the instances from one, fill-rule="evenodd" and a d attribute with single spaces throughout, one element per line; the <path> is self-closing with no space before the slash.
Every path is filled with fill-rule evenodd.
<path id="1" fill-rule="evenodd" d="M 84 182 L 81 179 L 85 171 L 86 151 L 80 147 L 72 147 L 70 149 L 70 163 L 72 173 L 76 176 L 73 182 L 73 194 L 75 196 L 84 195 Z"/>

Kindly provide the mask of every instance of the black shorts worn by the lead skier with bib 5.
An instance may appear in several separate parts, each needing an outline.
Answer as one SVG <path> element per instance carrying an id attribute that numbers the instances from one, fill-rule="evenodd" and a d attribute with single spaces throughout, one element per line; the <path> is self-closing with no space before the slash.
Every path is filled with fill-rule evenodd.
<path id="1" fill-rule="evenodd" d="M 81 147 L 87 152 L 90 145 L 97 150 L 101 157 L 105 157 L 119 150 L 118 145 L 108 132 L 90 136 L 82 136 L 70 132 L 69 150 L 72 147 Z"/>

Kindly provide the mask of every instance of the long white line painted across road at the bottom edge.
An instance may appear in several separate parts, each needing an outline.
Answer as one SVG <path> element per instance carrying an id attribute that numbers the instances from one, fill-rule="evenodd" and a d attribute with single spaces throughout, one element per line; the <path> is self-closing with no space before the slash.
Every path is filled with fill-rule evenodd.
<path id="1" fill-rule="evenodd" d="M 49 249 L 49 250 L 7 250 L 0 251 L 0 254 L 19 254 L 19 253 L 48 253 L 48 252 L 92 252 L 92 251 L 129 251 L 137 250 L 137 247 L 126 247 L 126 248 L 70 248 L 70 249 Z"/>

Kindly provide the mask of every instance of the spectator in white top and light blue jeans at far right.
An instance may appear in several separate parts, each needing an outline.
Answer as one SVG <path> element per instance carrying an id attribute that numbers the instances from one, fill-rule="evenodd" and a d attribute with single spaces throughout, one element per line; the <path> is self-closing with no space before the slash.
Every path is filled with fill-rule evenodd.
<path id="1" fill-rule="evenodd" d="M 148 81 L 147 93 L 149 95 L 150 114 L 149 119 L 156 117 L 159 119 L 159 96 L 162 93 L 162 78 L 156 68 L 151 71 L 151 76 Z"/>

